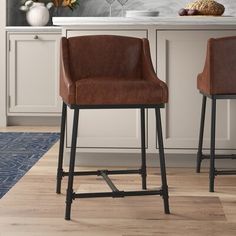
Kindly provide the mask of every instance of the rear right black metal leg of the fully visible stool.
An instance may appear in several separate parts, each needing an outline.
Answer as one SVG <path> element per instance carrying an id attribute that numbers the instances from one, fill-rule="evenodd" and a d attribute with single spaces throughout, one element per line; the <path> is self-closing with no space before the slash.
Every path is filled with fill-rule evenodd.
<path id="1" fill-rule="evenodd" d="M 146 167 L 146 147 L 145 147 L 145 109 L 141 108 L 141 152 L 142 152 L 142 188 L 147 189 L 147 167 Z"/>

